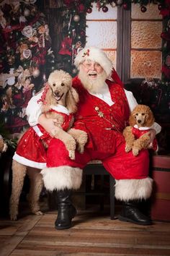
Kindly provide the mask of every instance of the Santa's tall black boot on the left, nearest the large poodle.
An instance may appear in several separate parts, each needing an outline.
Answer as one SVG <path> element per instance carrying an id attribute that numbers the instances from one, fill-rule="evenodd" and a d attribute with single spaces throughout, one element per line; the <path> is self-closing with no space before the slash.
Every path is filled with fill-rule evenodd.
<path id="1" fill-rule="evenodd" d="M 72 218 L 76 216 L 76 208 L 71 203 L 71 190 L 59 190 L 57 197 L 58 217 L 55 221 L 55 229 L 69 229 Z"/>

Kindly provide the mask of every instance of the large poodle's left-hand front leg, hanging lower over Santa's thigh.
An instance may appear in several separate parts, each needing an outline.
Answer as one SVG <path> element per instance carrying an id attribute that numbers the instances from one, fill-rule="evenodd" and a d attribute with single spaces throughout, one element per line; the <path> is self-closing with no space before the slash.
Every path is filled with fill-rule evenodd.
<path id="1" fill-rule="evenodd" d="M 71 159 L 75 159 L 75 150 L 76 150 L 76 140 L 68 134 L 68 132 L 63 131 L 59 127 L 55 127 L 55 137 L 66 145 L 68 150 L 68 155 Z"/>

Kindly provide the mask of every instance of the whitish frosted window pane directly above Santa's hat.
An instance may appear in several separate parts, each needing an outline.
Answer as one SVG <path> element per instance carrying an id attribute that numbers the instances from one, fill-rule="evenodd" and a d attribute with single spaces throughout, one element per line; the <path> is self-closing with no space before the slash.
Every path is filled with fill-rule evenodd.
<path id="1" fill-rule="evenodd" d="M 91 22 L 86 25 L 86 46 L 116 48 L 117 22 Z"/>

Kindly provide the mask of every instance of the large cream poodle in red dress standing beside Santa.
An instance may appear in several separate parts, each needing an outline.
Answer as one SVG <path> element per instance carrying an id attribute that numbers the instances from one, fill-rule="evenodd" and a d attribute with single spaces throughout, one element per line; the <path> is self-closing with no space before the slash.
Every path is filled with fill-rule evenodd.
<path id="1" fill-rule="evenodd" d="M 79 95 L 76 90 L 72 88 L 71 75 L 63 70 L 55 70 L 52 72 L 48 78 L 48 83 L 43 90 L 40 103 L 42 106 L 42 113 L 44 113 L 47 118 L 55 119 L 55 129 L 53 129 L 51 135 L 48 134 L 47 140 L 43 140 L 44 137 L 42 140 L 38 139 L 36 144 L 39 145 L 39 148 L 36 148 L 35 145 L 30 151 L 36 153 L 36 150 L 40 150 L 40 146 L 42 147 L 40 143 L 43 144 L 44 148 L 48 148 L 50 139 L 55 137 L 66 145 L 68 155 L 71 159 L 75 158 L 76 148 L 80 153 L 84 152 L 84 145 L 87 142 L 86 132 L 71 128 L 73 124 L 73 113 L 76 112 L 76 104 L 78 102 Z M 65 112 L 66 114 L 64 114 Z M 22 135 L 12 161 L 12 195 L 9 206 L 9 214 L 12 220 L 17 219 L 19 196 L 22 192 L 24 176 L 26 173 L 30 177 L 30 192 L 28 197 L 30 208 L 32 213 L 42 215 L 39 205 L 40 192 L 43 187 L 42 174 L 40 174 L 41 170 L 40 168 L 32 168 L 34 167 L 31 166 L 32 163 L 30 162 L 32 161 L 27 160 L 27 157 L 23 157 L 24 155 L 21 157 L 18 153 L 24 152 L 24 148 L 26 148 L 27 151 L 27 137 L 30 135 L 30 131 L 34 132 L 33 137 L 35 137 L 36 131 L 39 131 L 39 133 L 41 132 L 40 125 L 37 124 L 35 127 L 30 127 L 24 135 Z M 38 136 L 39 133 L 37 132 Z M 26 163 L 29 164 L 26 165 Z"/>

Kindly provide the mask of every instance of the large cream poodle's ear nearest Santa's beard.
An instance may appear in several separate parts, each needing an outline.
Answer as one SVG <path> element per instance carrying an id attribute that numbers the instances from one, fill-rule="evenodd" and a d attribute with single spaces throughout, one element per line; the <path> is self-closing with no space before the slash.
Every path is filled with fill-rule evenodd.
<path id="1" fill-rule="evenodd" d="M 76 92 L 74 88 L 70 88 L 66 95 L 66 108 L 70 111 L 70 113 L 75 113 L 77 110 L 77 103 L 79 102 L 79 94 Z"/>

